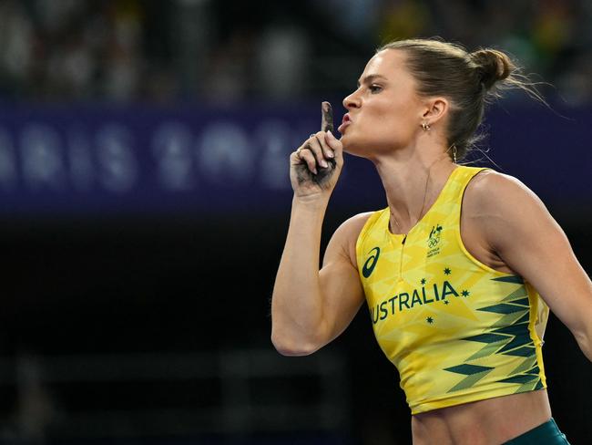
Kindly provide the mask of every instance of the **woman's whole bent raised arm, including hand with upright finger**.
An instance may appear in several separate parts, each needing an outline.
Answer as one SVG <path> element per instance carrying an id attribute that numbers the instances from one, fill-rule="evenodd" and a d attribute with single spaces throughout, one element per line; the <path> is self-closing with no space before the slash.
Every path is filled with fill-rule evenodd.
<path id="1" fill-rule="evenodd" d="M 311 354 L 329 343 L 363 300 L 354 264 L 363 217 L 348 220 L 333 234 L 319 271 L 322 220 L 343 165 L 328 102 L 322 103 L 321 129 L 290 157 L 294 199 L 271 297 L 271 341 L 287 356 Z"/>

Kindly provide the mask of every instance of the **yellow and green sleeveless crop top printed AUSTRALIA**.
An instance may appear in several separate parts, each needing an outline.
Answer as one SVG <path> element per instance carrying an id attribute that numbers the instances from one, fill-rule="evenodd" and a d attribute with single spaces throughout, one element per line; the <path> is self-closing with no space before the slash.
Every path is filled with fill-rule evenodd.
<path id="1" fill-rule="evenodd" d="M 412 414 L 546 388 L 548 307 L 532 285 L 480 263 L 461 240 L 464 189 L 483 170 L 454 169 L 407 235 L 389 231 L 386 208 L 356 243 L 374 335 Z"/>

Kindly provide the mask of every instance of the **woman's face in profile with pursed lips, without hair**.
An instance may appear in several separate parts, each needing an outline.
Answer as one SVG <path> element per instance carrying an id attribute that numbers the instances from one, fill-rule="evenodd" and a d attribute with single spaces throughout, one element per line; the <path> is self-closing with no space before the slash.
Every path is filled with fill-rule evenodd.
<path id="1" fill-rule="evenodd" d="M 415 93 L 415 80 L 401 50 L 386 49 L 366 65 L 359 87 L 343 99 L 343 150 L 373 158 L 412 143 L 421 130 L 426 107 Z M 349 122 L 348 122 L 349 119 Z"/>

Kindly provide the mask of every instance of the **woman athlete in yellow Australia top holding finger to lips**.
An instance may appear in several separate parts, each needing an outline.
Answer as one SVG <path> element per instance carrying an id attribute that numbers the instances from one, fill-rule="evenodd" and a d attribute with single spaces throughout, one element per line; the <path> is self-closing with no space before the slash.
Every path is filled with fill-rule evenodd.
<path id="1" fill-rule="evenodd" d="M 549 308 L 592 360 L 592 283 L 566 235 L 520 181 L 457 162 L 487 101 L 505 88 L 534 93 L 523 79 L 500 51 L 393 42 L 343 100 L 341 140 L 325 102 L 322 131 L 291 153 L 273 345 L 287 356 L 311 354 L 365 300 L 401 375 L 417 445 L 567 443 L 546 393 Z M 319 270 L 342 151 L 373 161 L 388 207 L 342 223 Z"/>

